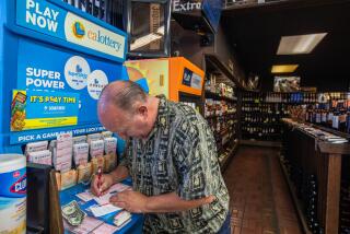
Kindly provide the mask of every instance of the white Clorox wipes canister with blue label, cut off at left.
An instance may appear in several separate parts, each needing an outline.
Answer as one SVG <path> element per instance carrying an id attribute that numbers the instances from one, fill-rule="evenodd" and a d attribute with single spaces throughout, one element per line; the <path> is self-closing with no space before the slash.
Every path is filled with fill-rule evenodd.
<path id="1" fill-rule="evenodd" d="M 26 231 L 25 167 L 25 156 L 0 154 L 0 233 Z"/>

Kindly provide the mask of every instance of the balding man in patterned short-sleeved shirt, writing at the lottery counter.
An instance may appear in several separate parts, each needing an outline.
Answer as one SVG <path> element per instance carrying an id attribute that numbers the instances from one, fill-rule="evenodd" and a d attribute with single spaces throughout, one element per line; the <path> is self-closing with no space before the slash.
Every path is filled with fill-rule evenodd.
<path id="1" fill-rule="evenodd" d="M 230 233 L 215 142 L 195 109 L 116 81 L 103 90 L 97 112 L 106 129 L 128 141 L 117 168 L 93 179 L 95 195 L 130 175 L 133 190 L 110 202 L 145 213 L 144 233 Z"/>

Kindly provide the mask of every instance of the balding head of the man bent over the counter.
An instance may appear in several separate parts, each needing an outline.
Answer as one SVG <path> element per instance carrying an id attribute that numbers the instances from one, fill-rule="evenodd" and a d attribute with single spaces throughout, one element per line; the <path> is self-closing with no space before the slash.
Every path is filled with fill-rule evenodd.
<path id="1" fill-rule="evenodd" d="M 152 97 L 131 81 L 115 81 L 105 86 L 97 113 L 102 125 L 124 139 L 145 138 L 154 124 Z"/>

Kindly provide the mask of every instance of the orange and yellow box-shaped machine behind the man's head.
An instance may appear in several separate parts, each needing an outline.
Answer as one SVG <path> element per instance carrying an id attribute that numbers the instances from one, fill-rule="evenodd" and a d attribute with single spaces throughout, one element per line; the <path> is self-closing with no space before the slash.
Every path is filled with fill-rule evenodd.
<path id="1" fill-rule="evenodd" d="M 183 57 L 126 61 L 129 79 L 144 80 L 151 95 L 165 95 L 201 112 L 205 72 Z"/>

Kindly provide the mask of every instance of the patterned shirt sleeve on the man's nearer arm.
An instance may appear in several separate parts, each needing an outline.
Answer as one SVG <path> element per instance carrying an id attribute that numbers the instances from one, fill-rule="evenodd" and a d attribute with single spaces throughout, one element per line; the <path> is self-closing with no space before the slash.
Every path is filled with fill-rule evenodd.
<path id="1" fill-rule="evenodd" d="M 189 126 L 189 127 L 188 127 Z M 184 200 L 194 200 L 214 195 L 215 178 L 212 175 L 212 156 L 196 126 L 188 124 L 175 133 L 174 165 L 177 172 L 177 195 Z M 180 136 L 186 136 L 179 140 Z M 177 140 L 176 140 L 177 139 Z"/>

